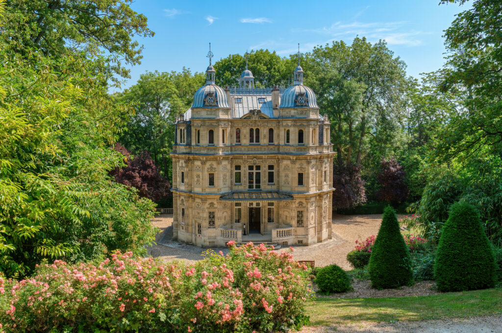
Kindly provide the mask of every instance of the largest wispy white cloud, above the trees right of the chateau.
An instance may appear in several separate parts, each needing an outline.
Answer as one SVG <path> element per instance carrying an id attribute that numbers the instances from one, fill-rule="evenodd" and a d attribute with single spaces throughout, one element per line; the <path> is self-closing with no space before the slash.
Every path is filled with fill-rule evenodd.
<path id="1" fill-rule="evenodd" d="M 304 30 L 335 38 L 366 37 L 370 41 L 385 40 L 389 45 L 417 46 L 421 35 L 428 33 L 406 29 L 406 21 L 396 22 L 336 22 L 329 27 Z"/>

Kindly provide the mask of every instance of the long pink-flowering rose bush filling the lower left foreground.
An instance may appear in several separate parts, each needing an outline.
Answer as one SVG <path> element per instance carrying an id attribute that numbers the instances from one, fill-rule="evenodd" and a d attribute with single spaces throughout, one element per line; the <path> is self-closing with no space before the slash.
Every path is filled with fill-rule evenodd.
<path id="1" fill-rule="evenodd" d="M 305 265 L 263 244 L 230 244 L 193 265 L 115 253 L 100 262 L 40 265 L 0 277 L 0 332 L 287 331 L 312 297 Z"/>

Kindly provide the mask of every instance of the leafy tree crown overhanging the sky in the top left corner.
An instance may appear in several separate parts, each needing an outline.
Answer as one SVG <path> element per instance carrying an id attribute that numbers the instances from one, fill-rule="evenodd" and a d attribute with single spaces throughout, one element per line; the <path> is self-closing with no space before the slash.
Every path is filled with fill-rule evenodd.
<path id="1" fill-rule="evenodd" d="M 131 9 L 132 2 L 9 0 L 0 35 L 19 54 L 40 50 L 57 58 L 68 50 L 92 60 L 89 71 L 129 77 L 123 63 L 135 65 L 142 58 L 143 46 L 134 37 L 154 35 L 147 27 L 147 18 Z"/>

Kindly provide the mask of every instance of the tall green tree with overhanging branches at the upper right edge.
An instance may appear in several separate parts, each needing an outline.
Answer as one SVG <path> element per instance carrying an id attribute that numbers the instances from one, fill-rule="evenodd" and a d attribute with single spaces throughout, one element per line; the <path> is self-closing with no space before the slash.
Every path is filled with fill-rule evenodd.
<path id="1" fill-rule="evenodd" d="M 441 3 L 446 3 L 442 1 Z M 453 2 L 453 1 L 448 1 Z M 463 5 L 466 0 L 455 1 Z M 477 0 L 446 30 L 443 91 L 461 95 L 462 112 L 440 135 L 436 156 L 450 159 L 502 148 L 502 15 L 500 2 Z"/>

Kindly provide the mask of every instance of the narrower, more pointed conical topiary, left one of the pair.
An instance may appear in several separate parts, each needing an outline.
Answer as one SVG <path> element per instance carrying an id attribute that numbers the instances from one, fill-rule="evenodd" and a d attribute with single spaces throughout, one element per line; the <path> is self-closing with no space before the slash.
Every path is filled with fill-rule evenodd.
<path id="1" fill-rule="evenodd" d="M 410 250 L 399 229 L 391 206 L 384 217 L 369 257 L 369 276 L 373 288 L 397 288 L 413 284 Z"/>

